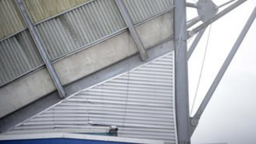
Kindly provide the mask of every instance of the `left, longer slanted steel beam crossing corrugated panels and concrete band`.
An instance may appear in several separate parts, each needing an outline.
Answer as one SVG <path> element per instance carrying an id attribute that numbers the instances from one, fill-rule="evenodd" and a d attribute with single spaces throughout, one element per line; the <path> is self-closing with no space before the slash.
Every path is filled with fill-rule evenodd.
<path id="1" fill-rule="evenodd" d="M 37 45 L 37 48 L 38 48 L 38 50 L 40 52 L 40 55 L 41 55 L 41 57 L 43 59 L 43 62 L 46 64 L 46 68 L 48 69 L 48 72 L 50 73 L 50 76 L 51 76 L 55 86 L 57 87 L 57 90 L 59 92 L 59 96 L 61 98 L 65 97 L 66 94 L 65 94 L 65 91 L 64 91 L 64 89 L 62 87 L 62 84 L 61 84 L 61 82 L 60 82 L 60 80 L 58 78 L 57 73 L 55 72 L 55 70 L 53 68 L 53 65 L 50 62 L 50 59 L 47 56 L 47 53 L 46 53 L 45 49 L 43 48 L 43 45 L 42 45 L 42 43 L 41 43 L 41 41 L 40 41 L 40 39 L 38 37 L 38 34 L 37 34 L 37 32 L 36 32 L 36 30 L 34 28 L 34 25 L 33 25 L 32 21 L 30 20 L 28 14 L 27 14 L 27 11 L 26 11 L 23 3 L 22 3 L 22 0 L 16 0 L 16 2 L 18 4 L 18 7 L 21 10 L 21 14 L 23 15 L 23 18 L 25 19 L 25 22 L 26 22 L 27 27 L 28 27 L 28 29 L 30 31 L 30 34 L 32 35 L 33 40 L 34 40 L 34 42 Z"/>

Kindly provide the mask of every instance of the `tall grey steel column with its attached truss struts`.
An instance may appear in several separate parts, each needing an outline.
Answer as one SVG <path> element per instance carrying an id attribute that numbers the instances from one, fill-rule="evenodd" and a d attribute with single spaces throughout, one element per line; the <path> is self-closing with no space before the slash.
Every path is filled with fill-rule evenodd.
<path id="1" fill-rule="evenodd" d="M 185 0 L 174 0 L 175 4 L 175 11 L 174 11 L 174 33 L 175 33 L 175 54 L 176 54 L 176 67 L 175 67 L 175 79 L 176 79 L 176 85 L 175 85 L 175 93 L 176 93 L 176 121 L 177 121 L 177 130 L 178 130 L 178 144 L 190 144 L 190 137 L 192 136 L 195 128 L 198 125 L 199 119 L 201 117 L 201 114 L 205 110 L 206 106 L 208 105 L 210 98 L 212 97 L 215 89 L 217 88 L 220 80 L 222 79 L 226 69 L 228 68 L 229 64 L 231 63 L 235 53 L 237 52 L 240 44 L 242 43 L 243 39 L 245 38 L 249 28 L 251 27 L 255 17 L 256 17 L 256 7 L 254 8 L 251 16 L 249 17 L 247 23 L 245 24 L 242 32 L 240 33 L 238 39 L 235 41 L 235 44 L 233 45 L 233 48 L 231 49 L 229 55 L 226 57 L 226 60 L 224 61 L 221 69 L 219 70 L 215 80 L 213 81 L 210 89 L 208 90 L 206 96 L 204 97 L 201 105 L 199 106 L 197 112 L 194 114 L 193 117 L 189 117 L 188 113 L 188 86 L 187 86 L 187 62 L 184 61 L 188 60 L 190 56 L 192 55 L 194 49 L 197 46 L 197 43 L 199 43 L 203 33 L 206 30 L 206 27 L 208 25 L 212 24 L 213 22 L 217 21 L 219 18 L 224 16 L 225 14 L 229 13 L 242 3 L 244 3 L 247 0 L 230 0 L 223 5 L 220 6 L 214 6 L 213 2 L 211 0 L 199 0 L 197 3 L 186 3 Z M 209 12 L 206 11 L 207 14 L 204 14 L 204 19 L 200 17 L 200 12 L 198 9 L 200 7 L 209 7 L 209 5 L 203 5 L 203 2 L 212 2 L 212 7 L 209 9 L 212 9 L 213 11 Z M 228 5 L 231 2 L 230 6 L 226 7 L 224 10 L 220 11 L 217 13 L 217 10 L 220 7 L 223 7 L 224 5 Z M 208 4 L 209 4 L 208 3 Z M 187 21 L 186 23 L 183 21 L 185 18 L 186 20 L 186 10 L 185 7 L 192 7 L 198 10 L 199 16 L 191 19 L 190 21 Z M 216 14 L 213 14 L 214 9 L 216 10 Z M 212 14 L 212 15 L 211 15 Z M 207 17 L 207 18 L 205 18 Z M 192 30 L 188 30 L 188 28 L 192 27 L 195 25 L 197 22 L 203 21 L 203 23 Z M 186 24 L 185 27 L 181 27 L 179 25 L 184 25 Z M 185 34 L 184 34 L 185 32 Z M 196 38 L 194 39 L 190 49 L 188 51 L 185 51 L 187 46 L 186 46 L 186 41 L 184 40 L 184 37 L 186 39 L 189 39 L 193 35 L 197 34 Z M 185 43 L 185 44 L 184 44 Z M 184 58 L 185 55 L 185 58 Z M 180 74 L 181 73 L 181 74 Z M 183 91 L 183 92 L 182 92 Z M 187 126 L 187 123 L 190 123 L 189 126 Z M 189 136 L 187 135 L 187 131 L 190 132 Z"/>

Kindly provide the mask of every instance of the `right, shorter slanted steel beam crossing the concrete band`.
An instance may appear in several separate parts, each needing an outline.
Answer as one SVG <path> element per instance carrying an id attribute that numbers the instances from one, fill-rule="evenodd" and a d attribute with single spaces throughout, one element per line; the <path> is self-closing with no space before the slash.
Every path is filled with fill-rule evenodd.
<path id="1" fill-rule="evenodd" d="M 119 8 L 119 11 L 121 12 L 123 20 L 126 23 L 128 29 L 130 31 L 130 34 L 133 37 L 133 40 L 135 41 L 135 44 L 139 50 L 139 54 L 140 54 L 142 61 L 146 60 L 147 58 L 149 58 L 149 56 L 146 53 L 146 50 L 143 46 L 141 39 L 139 38 L 139 34 L 135 30 L 132 19 L 128 13 L 128 10 L 126 9 L 126 6 L 123 3 L 123 0 L 116 0 L 116 3 L 117 3 L 117 7 Z"/>

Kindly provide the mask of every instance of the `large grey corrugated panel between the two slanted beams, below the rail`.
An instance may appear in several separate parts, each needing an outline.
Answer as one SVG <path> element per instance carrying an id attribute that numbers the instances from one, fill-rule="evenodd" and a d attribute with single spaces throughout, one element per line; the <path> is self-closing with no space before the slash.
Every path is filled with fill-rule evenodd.
<path id="1" fill-rule="evenodd" d="M 114 0 L 95 0 L 37 25 L 55 59 L 126 27 Z"/>

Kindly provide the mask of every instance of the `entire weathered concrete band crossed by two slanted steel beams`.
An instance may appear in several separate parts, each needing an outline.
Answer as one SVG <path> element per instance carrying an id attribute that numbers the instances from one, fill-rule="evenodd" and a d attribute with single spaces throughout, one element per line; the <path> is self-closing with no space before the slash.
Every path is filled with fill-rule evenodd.
<path id="1" fill-rule="evenodd" d="M 169 12 L 136 27 L 146 48 L 173 35 L 173 18 Z M 95 46 L 53 64 L 62 84 L 68 84 L 133 55 L 137 48 L 128 32 L 123 32 Z M 46 69 L 31 73 L 0 89 L 0 117 L 54 91 Z"/>

